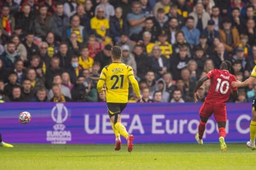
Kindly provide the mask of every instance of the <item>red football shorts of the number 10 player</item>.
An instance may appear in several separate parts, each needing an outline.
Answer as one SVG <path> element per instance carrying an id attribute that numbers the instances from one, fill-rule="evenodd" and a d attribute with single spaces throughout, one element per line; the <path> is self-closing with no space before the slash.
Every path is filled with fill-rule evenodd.
<path id="1" fill-rule="evenodd" d="M 204 103 L 199 111 L 199 115 L 205 118 L 209 118 L 214 115 L 216 122 L 227 122 L 227 110 L 226 105 L 217 106 L 209 103 Z"/>

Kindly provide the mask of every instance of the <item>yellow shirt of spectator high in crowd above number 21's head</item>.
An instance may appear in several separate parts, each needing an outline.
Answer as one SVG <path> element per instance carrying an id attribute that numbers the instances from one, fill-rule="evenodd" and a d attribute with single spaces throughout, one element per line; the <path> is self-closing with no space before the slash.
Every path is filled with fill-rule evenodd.
<path id="1" fill-rule="evenodd" d="M 96 33 L 104 37 L 106 35 L 107 29 L 109 29 L 109 20 L 104 18 L 99 20 L 97 17 L 93 17 L 90 20 L 90 25 L 92 29 L 96 30 Z"/>

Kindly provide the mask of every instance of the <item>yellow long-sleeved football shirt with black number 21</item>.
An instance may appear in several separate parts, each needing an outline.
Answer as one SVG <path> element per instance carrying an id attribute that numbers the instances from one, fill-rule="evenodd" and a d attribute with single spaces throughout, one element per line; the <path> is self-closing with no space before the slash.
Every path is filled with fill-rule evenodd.
<path id="1" fill-rule="evenodd" d="M 134 77 L 131 66 L 122 62 L 113 62 L 105 66 L 99 77 L 97 89 L 102 91 L 106 83 L 106 99 L 109 103 L 127 103 L 129 92 L 129 80 L 137 96 L 140 96 L 140 89 Z"/>

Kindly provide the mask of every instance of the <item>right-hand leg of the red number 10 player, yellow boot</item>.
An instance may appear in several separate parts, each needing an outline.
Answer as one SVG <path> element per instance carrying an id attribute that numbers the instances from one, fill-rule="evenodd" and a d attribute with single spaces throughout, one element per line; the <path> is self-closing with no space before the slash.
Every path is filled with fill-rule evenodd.
<path id="1" fill-rule="evenodd" d="M 225 106 L 215 106 L 214 107 L 214 118 L 218 123 L 219 131 L 219 142 L 222 151 L 227 150 L 227 144 L 225 142 L 226 137 L 226 122 L 227 122 L 227 110 Z"/>

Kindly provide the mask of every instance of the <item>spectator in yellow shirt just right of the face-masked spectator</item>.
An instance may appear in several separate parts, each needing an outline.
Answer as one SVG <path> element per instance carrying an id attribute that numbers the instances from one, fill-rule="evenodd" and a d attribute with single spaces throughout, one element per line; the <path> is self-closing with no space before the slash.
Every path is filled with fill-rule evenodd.
<path id="1" fill-rule="evenodd" d="M 89 56 L 89 49 L 87 46 L 81 48 L 81 56 L 78 58 L 78 64 L 82 66 L 83 69 L 91 69 L 93 67 L 93 59 Z"/>

